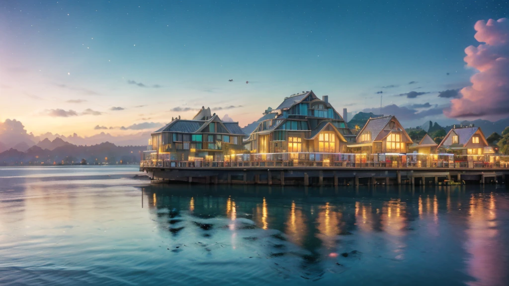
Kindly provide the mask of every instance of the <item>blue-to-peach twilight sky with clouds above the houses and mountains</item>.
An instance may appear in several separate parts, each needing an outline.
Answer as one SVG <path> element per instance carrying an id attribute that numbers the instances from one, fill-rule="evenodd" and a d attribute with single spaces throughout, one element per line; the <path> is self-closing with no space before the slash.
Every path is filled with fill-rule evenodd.
<path id="1" fill-rule="evenodd" d="M 0 124 L 145 142 L 202 106 L 242 127 L 308 90 L 405 127 L 498 120 L 508 12 L 504 1 L 3 1 Z"/>

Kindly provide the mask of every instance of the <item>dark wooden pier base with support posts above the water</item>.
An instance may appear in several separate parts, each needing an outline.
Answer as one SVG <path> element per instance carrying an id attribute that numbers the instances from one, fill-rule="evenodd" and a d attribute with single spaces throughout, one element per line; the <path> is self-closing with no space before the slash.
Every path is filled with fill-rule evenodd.
<path id="1" fill-rule="evenodd" d="M 509 169 L 387 167 L 140 167 L 155 182 L 264 185 L 438 185 L 503 183 Z M 507 186 L 507 185 L 506 185 Z"/>

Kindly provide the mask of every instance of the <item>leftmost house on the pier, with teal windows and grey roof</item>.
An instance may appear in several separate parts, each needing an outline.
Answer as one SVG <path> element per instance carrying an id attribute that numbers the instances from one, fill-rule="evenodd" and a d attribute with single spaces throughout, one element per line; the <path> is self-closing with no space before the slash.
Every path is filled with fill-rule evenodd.
<path id="1" fill-rule="evenodd" d="M 153 132 L 149 148 L 163 159 L 186 161 L 199 157 L 221 161 L 231 150 L 243 150 L 243 137 L 238 122 L 222 122 L 210 108 L 202 107 L 192 120 L 175 118 Z"/>

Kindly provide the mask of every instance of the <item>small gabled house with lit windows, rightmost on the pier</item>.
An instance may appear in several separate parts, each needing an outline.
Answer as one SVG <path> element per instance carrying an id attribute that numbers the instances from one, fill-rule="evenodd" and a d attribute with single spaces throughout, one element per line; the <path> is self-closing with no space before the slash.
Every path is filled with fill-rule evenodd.
<path id="1" fill-rule="evenodd" d="M 488 142 L 479 127 L 453 126 L 438 145 L 440 149 L 453 151 L 457 155 L 483 155 Z"/>

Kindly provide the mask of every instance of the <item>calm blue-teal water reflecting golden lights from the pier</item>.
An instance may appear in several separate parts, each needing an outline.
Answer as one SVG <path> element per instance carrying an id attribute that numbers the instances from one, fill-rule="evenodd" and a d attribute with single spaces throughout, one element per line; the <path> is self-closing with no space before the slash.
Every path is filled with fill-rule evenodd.
<path id="1" fill-rule="evenodd" d="M 150 185 L 136 174 L 0 168 L 0 284 L 509 284 L 503 186 Z"/>

